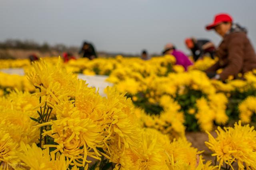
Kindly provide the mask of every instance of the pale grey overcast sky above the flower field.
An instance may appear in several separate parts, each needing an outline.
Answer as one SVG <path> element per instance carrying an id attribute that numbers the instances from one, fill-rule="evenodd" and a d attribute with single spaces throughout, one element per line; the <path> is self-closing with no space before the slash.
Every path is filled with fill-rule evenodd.
<path id="1" fill-rule="evenodd" d="M 160 53 L 166 43 L 188 52 L 184 39 L 221 38 L 204 26 L 227 12 L 248 29 L 256 47 L 256 0 L 0 0 L 0 41 L 31 39 L 39 43 L 80 46 L 98 51 Z"/>

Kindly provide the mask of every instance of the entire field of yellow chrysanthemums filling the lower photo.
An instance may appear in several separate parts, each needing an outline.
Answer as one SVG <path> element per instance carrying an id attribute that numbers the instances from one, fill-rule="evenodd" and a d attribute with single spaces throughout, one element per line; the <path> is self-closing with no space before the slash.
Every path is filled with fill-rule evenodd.
<path id="1" fill-rule="evenodd" d="M 26 72 L 0 72 L 2 169 L 256 170 L 256 71 L 224 83 L 203 72 L 207 57 L 188 72 L 170 55 L 0 62 Z M 113 87 L 102 97 L 78 73 Z M 215 162 L 186 131 L 208 134 Z"/>

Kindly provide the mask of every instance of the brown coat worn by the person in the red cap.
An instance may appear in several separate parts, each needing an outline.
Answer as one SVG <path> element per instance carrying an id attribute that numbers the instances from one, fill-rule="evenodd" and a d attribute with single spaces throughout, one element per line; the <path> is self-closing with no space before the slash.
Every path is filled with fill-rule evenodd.
<path id="1" fill-rule="evenodd" d="M 246 36 L 246 30 L 235 26 L 225 35 L 216 51 L 219 61 L 206 70 L 209 73 L 223 68 L 220 74 L 222 80 L 256 68 L 256 54 Z"/>

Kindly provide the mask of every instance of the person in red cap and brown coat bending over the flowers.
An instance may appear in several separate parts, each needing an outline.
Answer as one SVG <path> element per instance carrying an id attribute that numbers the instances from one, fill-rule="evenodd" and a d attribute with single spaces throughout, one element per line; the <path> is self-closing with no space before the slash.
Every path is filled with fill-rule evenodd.
<path id="1" fill-rule="evenodd" d="M 246 29 L 232 22 L 228 14 L 218 14 L 214 23 L 206 26 L 206 29 L 214 29 L 222 38 L 216 55 L 219 60 L 206 70 L 207 75 L 213 79 L 226 80 L 229 76 L 244 74 L 256 68 L 256 54 L 248 39 Z M 216 70 L 223 68 L 222 73 L 216 74 Z"/>

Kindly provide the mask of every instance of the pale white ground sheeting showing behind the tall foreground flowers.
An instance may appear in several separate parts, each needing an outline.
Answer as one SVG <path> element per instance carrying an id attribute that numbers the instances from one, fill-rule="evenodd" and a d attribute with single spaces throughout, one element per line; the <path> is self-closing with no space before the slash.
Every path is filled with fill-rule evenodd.
<path id="1" fill-rule="evenodd" d="M 24 70 L 22 68 L 9 68 L 9 69 L 1 69 L 0 72 L 5 72 L 8 74 L 18 74 L 18 75 L 25 75 Z M 84 74 L 78 74 L 78 78 L 82 80 L 86 80 L 90 87 L 95 87 L 96 90 L 99 89 L 99 93 L 101 96 L 105 96 L 104 89 L 107 86 L 112 86 L 112 83 L 106 82 L 106 78 L 108 76 L 102 75 L 95 75 L 95 76 L 86 76 Z"/>

